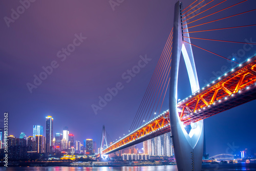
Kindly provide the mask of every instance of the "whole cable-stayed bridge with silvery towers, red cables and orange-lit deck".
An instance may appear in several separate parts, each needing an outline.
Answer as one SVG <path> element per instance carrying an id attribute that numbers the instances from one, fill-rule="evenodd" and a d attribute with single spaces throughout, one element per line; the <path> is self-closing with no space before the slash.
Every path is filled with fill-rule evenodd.
<path id="1" fill-rule="evenodd" d="M 198 3 L 195 1 L 185 9 L 183 9 L 180 1 L 176 3 L 174 11 L 174 27 L 168 36 L 163 52 L 157 63 L 157 67 L 130 127 L 129 134 L 112 144 L 108 144 L 106 141 L 106 132 L 103 126 L 101 151 L 100 154 L 96 155 L 97 157 L 100 155 L 104 156 L 114 153 L 120 149 L 138 144 L 167 132 L 171 132 L 178 169 L 201 170 L 204 132 L 203 119 L 256 99 L 255 55 L 248 57 L 244 62 L 238 63 L 235 58 L 229 59 L 200 46 L 194 45 L 190 41 L 190 39 L 200 39 L 229 42 L 232 44 L 256 45 L 254 42 L 228 41 L 189 36 L 189 33 L 212 32 L 256 26 L 255 24 L 251 24 L 189 32 L 189 28 L 214 23 L 219 20 L 232 18 L 256 10 L 253 9 L 211 20 L 210 22 L 203 24 L 190 26 L 189 24 L 191 23 L 240 5 L 247 0 L 233 5 L 231 5 L 232 3 L 229 3 L 228 7 L 191 21 L 195 16 L 202 14 L 209 9 L 215 8 L 225 3 L 227 0 L 206 8 L 213 1 L 214 0 L 206 4 L 203 3 L 204 1 L 200 1 Z M 205 8 L 205 10 L 196 13 L 196 11 L 201 8 Z M 193 13 L 196 14 L 191 16 Z M 206 87 L 200 89 L 192 47 L 199 48 L 218 57 L 230 60 L 232 64 L 234 64 L 234 67 L 232 67 L 230 71 L 224 73 L 224 75 L 218 77 L 215 81 L 209 83 Z M 189 77 L 191 95 L 183 100 L 178 100 L 177 82 L 181 53 L 183 55 Z M 157 113 L 160 113 L 163 101 L 167 96 L 166 92 L 168 88 L 169 110 L 154 117 L 154 119 L 150 119 L 152 115 L 154 116 Z M 186 126 L 189 127 L 189 131 L 185 130 Z M 103 146 L 104 142 L 106 143 L 106 147 Z"/>

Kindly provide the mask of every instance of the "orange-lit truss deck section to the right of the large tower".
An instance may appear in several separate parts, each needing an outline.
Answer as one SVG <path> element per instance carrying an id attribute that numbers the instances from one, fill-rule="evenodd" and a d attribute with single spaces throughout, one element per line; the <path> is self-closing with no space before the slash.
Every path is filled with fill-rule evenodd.
<path id="1" fill-rule="evenodd" d="M 180 101 L 178 103 L 180 118 L 185 125 L 188 125 L 254 100 L 255 82 L 256 56 L 253 56 L 212 81 L 207 87 Z M 232 104 L 232 102 L 236 103 Z M 221 106 L 225 109 L 220 109 Z"/>

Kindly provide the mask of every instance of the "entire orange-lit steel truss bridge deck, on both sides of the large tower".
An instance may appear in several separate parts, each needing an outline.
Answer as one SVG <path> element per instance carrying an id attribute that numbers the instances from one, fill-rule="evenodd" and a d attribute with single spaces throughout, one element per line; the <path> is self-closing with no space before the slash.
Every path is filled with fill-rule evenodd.
<path id="1" fill-rule="evenodd" d="M 256 56 L 180 101 L 177 108 L 181 121 L 184 125 L 188 125 L 254 99 L 256 99 Z M 103 149 L 102 154 L 108 155 L 168 132 L 170 132 L 169 112 L 165 111 Z M 99 154 L 96 156 L 98 157 Z"/>

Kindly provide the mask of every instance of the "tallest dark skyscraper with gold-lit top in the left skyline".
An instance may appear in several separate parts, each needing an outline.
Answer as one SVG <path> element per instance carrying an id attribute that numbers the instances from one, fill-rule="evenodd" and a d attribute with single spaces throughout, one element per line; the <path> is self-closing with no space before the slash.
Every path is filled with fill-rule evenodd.
<path id="1" fill-rule="evenodd" d="M 46 152 L 50 152 L 50 147 L 53 141 L 53 118 L 51 116 L 46 117 Z"/>

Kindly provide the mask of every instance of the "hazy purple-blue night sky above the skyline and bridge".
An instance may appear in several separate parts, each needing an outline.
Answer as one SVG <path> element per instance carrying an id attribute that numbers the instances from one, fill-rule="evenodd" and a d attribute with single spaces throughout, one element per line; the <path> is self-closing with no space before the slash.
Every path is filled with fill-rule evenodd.
<path id="1" fill-rule="evenodd" d="M 241 1 L 226 1 L 195 19 Z M 183 6 L 192 2 L 184 0 Z M 201 11 L 220 2 L 216 0 Z M 21 4 L 19 1 L 0 1 L 0 109 L 2 115 L 9 112 L 9 135 L 18 137 L 20 132 L 25 132 L 32 136 L 32 127 L 36 124 L 44 126 L 45 133 L 45 117 L 48 115 L 54 118 L 54 134 L 68 126 L 75 140 L 92 138 L 99 144 L 103 124 L 113 140 L 127 134 L 172 30 L 175 3 L 173 0 L 125 0 L 112 8 L 107 0 L 37 0 L 8 23 L 5 18 L 11 18 L 12 9 L 17 11 Z M 189 26 L 252 10 L 255 6 L 254 0 L 248 0 Z M 255 15 L 256 11 L 253 11 L 189 31 L 252 25 Z M 77 36 L 82 38 L 75 42 L 79 44 L 75 50 L 70 54 L 61 52 L 62 48 L 73 44 Z M 255 27 L 191 33 L 190 36 L 256 41 Z M 237 62 L 256 52 L 255 45 L 245 51 L 243 44 L 195 39 L 191 42 L 229 58 L 239 53 Z M 231 69 L 232 64 L 225 59 L 196 47 L 193 51 L 200 87 L 224 74 L 223 66 Z M 147 55 L 152 60 L 126 83 L 122 74 L 138 64 L 140 55 Z M 27 84 L 32 84 L 34 75 L 39 76 L 44 71 L 42 67 L 50 65 L 55 66 L 51 74 L 31 93 Z M 178 98 L 183 99 L 191 93 L 183 59 L 179 78 Z M 99 96 L 104 96 L 107 89 L 118 82 L 123 83 L 123 89 L 96 115 L 92 104 L 98 105 Z M 252 101 L 204 120 L 209 156 L 226 152 L 238 154 L 245 148 L 256 150 L 255 105 L 256 101 Z M 168 98 L 162 111 L 167 109 Z M 233 144 L 232 150 L 230 146 Z"/>

